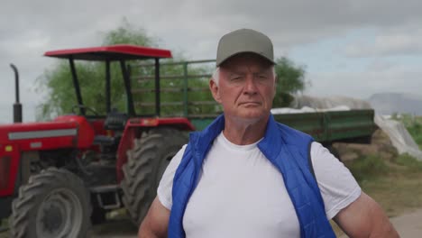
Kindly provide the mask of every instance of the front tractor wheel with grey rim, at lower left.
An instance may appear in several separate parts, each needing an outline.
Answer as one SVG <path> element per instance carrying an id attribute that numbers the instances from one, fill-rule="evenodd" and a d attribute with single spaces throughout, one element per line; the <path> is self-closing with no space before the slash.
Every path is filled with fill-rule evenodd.
<path id="1" fill-rule="evenodd" d="M 85 238 L 91 227 L 87 188 L 82 179 L 65 169 L 43 169 L 33 175 L 19 189 L 12 210 L 14 238 Z"/>

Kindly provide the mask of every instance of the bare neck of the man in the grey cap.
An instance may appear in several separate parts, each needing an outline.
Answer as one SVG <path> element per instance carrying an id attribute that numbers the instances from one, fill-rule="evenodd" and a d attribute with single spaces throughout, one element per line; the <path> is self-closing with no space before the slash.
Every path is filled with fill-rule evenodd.
<path id="1" fill-rule="evenodd" d="M 225 138 L 234 144 L 245 145 L 258 142 L 265 134 L 269 116 L 256 121 L 225 118 Z"/>

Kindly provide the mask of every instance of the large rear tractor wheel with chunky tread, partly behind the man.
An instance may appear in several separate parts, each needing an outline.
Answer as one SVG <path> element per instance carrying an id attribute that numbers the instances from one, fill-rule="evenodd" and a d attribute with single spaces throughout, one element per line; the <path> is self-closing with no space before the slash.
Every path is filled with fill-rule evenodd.
<path id="1" fill-rule="evenodd" d="M 170 160 L 188 142 L 178 130 L 154 129 L 141 140 L 134 142 L 133 150 L 127 151 L 123 166 L 123 202 L 134 224 L 142 223 Z"/>

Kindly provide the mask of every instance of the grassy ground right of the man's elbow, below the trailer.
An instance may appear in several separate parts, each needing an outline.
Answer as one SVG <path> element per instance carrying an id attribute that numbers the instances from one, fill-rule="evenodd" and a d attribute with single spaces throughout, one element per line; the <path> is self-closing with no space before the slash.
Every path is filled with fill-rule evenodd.
<path id="1" fill-rule="evenodd" d="M 422 161 L 402 154 L 391 160 L 366 156 L 345 165 L 389 217 L 422 207 Z M 332 224 L 335 233 L 341 235 L 343 232 Z"/>

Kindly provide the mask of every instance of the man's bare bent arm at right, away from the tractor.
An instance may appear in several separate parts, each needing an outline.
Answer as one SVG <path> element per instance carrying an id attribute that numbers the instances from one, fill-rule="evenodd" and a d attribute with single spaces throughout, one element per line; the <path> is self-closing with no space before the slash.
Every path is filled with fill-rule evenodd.
<path id="1" fill-rule="evenodd" d="M 363 192 L 334 220 L 349 237 L 399 237 L 381 206 Z"/>

